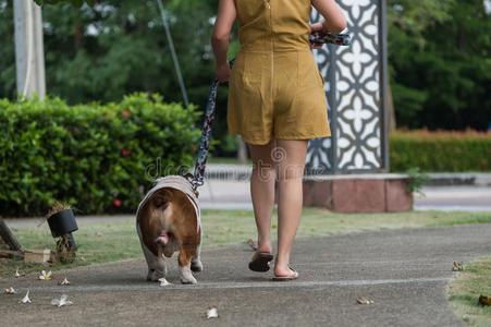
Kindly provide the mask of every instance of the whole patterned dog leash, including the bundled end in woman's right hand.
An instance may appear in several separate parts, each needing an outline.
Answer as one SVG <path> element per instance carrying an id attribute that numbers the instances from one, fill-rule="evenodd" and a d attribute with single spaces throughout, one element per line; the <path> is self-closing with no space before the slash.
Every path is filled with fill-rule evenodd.
<path id="1" fill-rule="evenodd" d="M 349 46 L 352 43 L 351 36 L 347 34 L 323 34 L 316 33 L 310 35 L 309 40 L 311 44 L 323 45 L 323 44 L 334 44 L 337 46 Z M 230 62 L 230 65 L 233 65 L 233 60 Z M 193 174 L 187 174 L 193 191 L 196 196 L 198 196 L 197 189 L 204 184 L 205 180 L 205 169 L 206 161 L 208 159 L 208 152 L 210 148 L 210 136 L 211 129 L 214 120 L 214 109 L 217 107 L 217 93 L 220 82 L 218 80 L 213 80 L 210 86 L 210 93 L 208 96 L 208 102 L 205 110 L 205 120 L 202 122 L 201 129 L 201 141 L 199 144 L 198 156 L 196 159 L 195 171 Z"/>

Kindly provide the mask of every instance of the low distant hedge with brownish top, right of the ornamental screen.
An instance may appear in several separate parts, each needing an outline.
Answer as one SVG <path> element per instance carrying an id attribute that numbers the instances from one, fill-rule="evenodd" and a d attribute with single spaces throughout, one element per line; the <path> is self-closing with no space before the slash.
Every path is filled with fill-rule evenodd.
<path id="1" fill-rule="evenodd" d="M 427 172 L 491 170 L 491 133 L 395 132 L 390 137 L 392 171 L 419 167 Z"/>

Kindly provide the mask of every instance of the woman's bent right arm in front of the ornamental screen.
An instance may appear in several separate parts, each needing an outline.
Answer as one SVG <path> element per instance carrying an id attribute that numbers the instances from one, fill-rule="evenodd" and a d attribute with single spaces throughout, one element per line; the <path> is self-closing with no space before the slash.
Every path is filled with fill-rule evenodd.
<path id="1" fill-rule="evenodd" d="M 311 26 L 312 32 L 341 33 L 346 28 L 346 19 L 343 10 L 334 0 L 311 0 L 314 8 L 326 21 Z"/>

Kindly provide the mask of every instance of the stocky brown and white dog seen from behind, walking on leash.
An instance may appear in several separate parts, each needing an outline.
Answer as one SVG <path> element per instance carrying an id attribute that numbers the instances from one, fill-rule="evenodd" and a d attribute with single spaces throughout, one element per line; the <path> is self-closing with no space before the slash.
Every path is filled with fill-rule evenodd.
<path id="1" fill-rule="evenodd" d="M 138 206 L 136 230 L 148 265 L 147 280 L 165 278 L 165 257 L 179 252 L 181 282 L 196 283 L 192 270 L 202 270 L 201 223 L 198 199 L 186 178 L 157 180 Z"/>

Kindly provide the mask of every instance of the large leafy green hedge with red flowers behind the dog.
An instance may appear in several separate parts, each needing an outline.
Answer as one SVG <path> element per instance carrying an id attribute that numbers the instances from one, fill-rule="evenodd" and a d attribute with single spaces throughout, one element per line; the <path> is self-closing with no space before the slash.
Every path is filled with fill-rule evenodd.
<path id="1" fill-rule="evenodd" d="M 105 106 L 0 100 L 0 215 L 44 215 L 54 201 L 84 215 L 133 213 L 149 172 L 193 164 L 197 119 L 145 94 Z"/>

